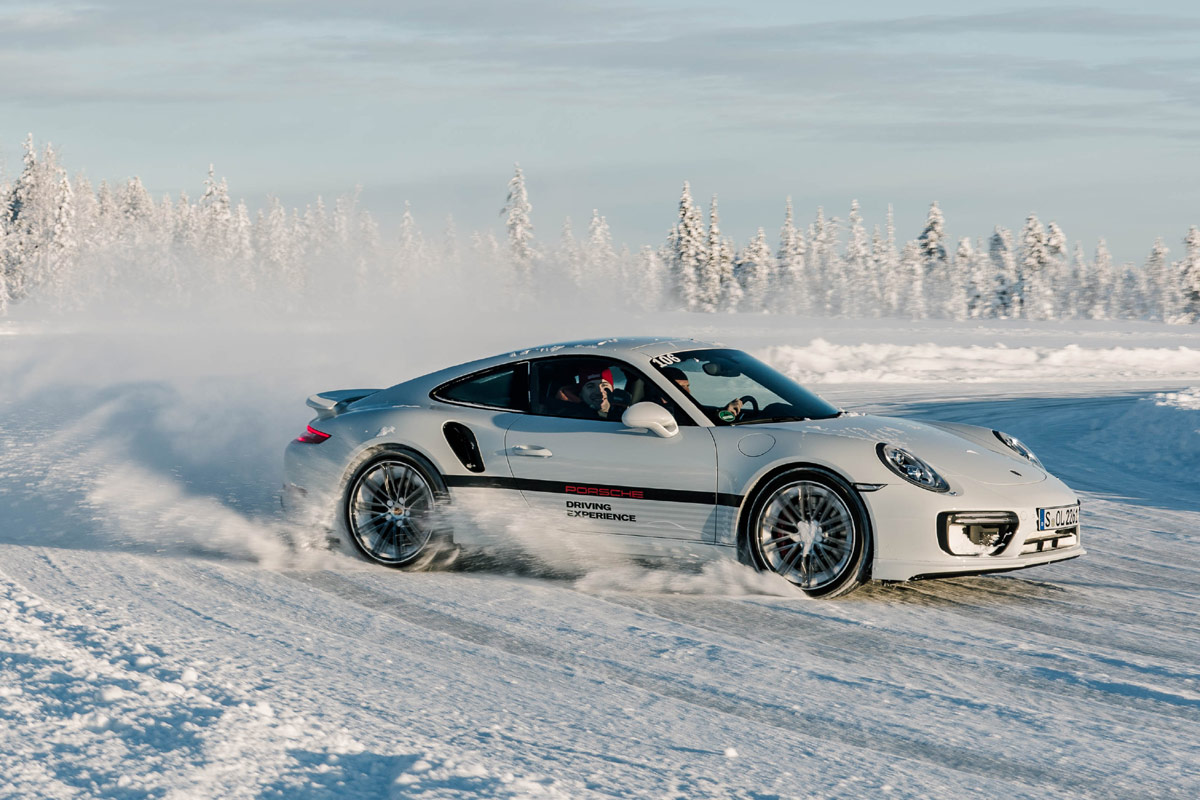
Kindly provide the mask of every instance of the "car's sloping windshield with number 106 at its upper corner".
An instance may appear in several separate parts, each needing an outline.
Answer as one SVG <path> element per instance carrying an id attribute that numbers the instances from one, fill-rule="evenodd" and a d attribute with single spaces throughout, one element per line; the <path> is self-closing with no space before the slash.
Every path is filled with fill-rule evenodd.
<path id="1" fill-rule="evenodd" d="M 740 350 L 686 350 L 650 363 L 714 425 L 828 420 L 840 411 Z"/>

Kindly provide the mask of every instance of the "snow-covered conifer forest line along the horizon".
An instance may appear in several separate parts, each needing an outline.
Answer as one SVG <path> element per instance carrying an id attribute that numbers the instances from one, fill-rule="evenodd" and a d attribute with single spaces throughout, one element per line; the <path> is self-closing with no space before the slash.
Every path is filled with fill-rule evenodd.
<path id="1" fill-rule="evenodd" d="M 817 209 L 798 223 L 788 200 L 779 233 L 760 228 L 738 247 L 683 186 L 674 223 L 658 246 L 618 247 L 594 211 L 582 235 L 566 219 L 541 239 L 516 168 L 505 230 L 464 240 L 446 219 L 425 234 L 407 207 L 384 235 L 346 196 L 287 209 L 278 198 L 251 213 L 210 169 L 194 200 L 155 199 L 137 178 L 92 186 L 71 178 L 53 148 L 24 144 L 19 174 L 0 184 L 0 314 L 13 303 L 60 312 L 92 303 L 188 303 L 218 297 L 299 307 L 404 295 L 421 278 L 486 282 L 518 295 L 625 287 L 646 311 L 744 312 L 946 319 L 1200 320 L 1200 229 L 1181 257 L 1157 240 L 1144 264 L 1117 264 L 1102 239 L 1091 253 L 1031 213 L 1020 230 L 948 239 L 937 203 L 924 228 L 896 237 L 890 206 L 870 230 L 851 203 L 845 219 Z"/>

